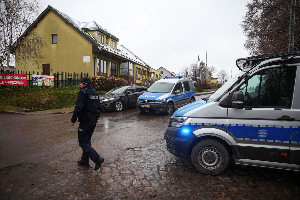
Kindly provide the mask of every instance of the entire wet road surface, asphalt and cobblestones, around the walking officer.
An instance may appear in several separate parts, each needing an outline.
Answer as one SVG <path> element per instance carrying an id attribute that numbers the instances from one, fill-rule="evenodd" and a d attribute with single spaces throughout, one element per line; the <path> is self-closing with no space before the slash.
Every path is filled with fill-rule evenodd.
<path id="1" fill-rule="evenodd" d="M 199 98 L 199 97 L 197 97 Z M 105 158 L 78 166 L 71 114 L 0 115 L 1 199 L 300 199 L 300 173 L 230 165 L 199 174 L 165 149 L 170 116 L 104 112 L 91 143 Z"/>

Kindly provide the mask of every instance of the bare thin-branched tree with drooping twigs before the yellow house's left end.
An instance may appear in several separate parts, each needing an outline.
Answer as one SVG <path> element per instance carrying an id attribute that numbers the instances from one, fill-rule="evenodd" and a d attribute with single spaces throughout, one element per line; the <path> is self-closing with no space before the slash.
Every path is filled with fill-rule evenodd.
<path id="1" fill-rule="evenodd" d="M 45 42 L 35 33 L 34 22 L 41 11 L 38 0 L 0 0 L 0 64 L 7 69 L 11 61 L 38 65 Z M 17 53 L 17 54 L 16 54 Z M 16 57 L 16 55 L 18 57 Z"/>

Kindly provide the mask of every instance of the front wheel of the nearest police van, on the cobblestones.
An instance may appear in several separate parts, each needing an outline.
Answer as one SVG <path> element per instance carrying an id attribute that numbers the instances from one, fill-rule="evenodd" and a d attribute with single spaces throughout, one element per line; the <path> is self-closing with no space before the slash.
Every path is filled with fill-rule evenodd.
<path id="1" fill-rule="evenodd" d="M 204 139 L 193 148 L 191 160 L 201 174 L 218 175 L 229 163 L 229 153 L 219 141 Z"/>

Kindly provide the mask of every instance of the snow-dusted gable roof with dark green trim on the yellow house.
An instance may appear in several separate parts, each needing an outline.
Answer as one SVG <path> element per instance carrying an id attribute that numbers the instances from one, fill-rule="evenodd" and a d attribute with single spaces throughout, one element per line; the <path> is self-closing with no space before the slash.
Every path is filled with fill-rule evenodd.
<path id="1" fill-rule="evenodd" d="M 99 30 L 99 31 L 107 34 L 109 37 L 112 37 L 116 41 L 119 41 L 119 38 L 114 36 L 107 29 L 103 29 L 98 23 L 96 23 L 96 22 L 78 22 L 76 19 L 73 19 L 72 17 L 62 13 L 61 11 L 55 9 L 54 7 L 52 7 L 50 5 L 48 5 L 48 7 L 46 7 L 46 9 L 37 17 L 37 19 L 35 19 L 35 21 L 26 29 L 26 31 L 24 31 L 24 33 L 22 34 L 21 37 L 18 38 L 18 40 L 24 39 L 28 35 L 28 33 L 33 28 L 35 28 L 37 26 L 37 24 L 44 18 L 44 16 L 46 16 L 46 14 L 49 13 L 50 10 L 53 11 L 56 15 L 58 15 L 61 19 L 63 19 L 66 24 L 70 25 L 77 32 L 79 32 L 79 34 L 81 34 L 83 37 L 85 37 L 85 39 L 87 39 L 89 42 L 91 42 L 97 49 L 99 49 L 99 51 L 108 52 L 110 54 L 113 54 L 116 57 L 125 59 L 129 62 L 139 64 L 148 69 L 150 68 L 150 66 L 148 64 L 146 64 L 144 61 L 142 61 L 139 57 L 134 55 L 131 51 L 129 51 L 124 46 L 123 46 L 124 48 L 122 49 L 122 51 L 120 51 L 119 48 L 117 50 L 113 49 L 109 45 L 98 42 L 95 39 L 95 37 L 91 36 L 90 34 L 88 34 L 85 31 L 85 29 L 86 30 Z"/>

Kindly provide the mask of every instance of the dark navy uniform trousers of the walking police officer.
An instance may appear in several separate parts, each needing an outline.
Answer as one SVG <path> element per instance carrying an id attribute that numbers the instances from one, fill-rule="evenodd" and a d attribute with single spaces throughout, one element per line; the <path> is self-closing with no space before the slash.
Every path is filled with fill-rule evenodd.
<path id="1" fill-rule="evenodd" d="M 91 147 L 91 137 L 97 124 L 97 118 L 91 117 L 88 121 L 80 122 L 78 126 L 78 143 L 82 148 L 81 160 L 88 163 L 89 158 L 95 163 L 100 157 L 97 151 Z"/>

